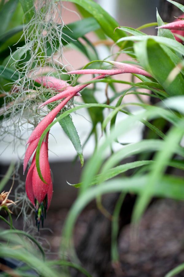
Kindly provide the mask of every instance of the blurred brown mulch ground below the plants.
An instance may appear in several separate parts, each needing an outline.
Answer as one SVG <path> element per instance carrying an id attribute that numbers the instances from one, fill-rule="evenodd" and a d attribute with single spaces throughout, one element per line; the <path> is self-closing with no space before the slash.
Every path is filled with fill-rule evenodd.
<path id="1" fill-rule="evenodd" d="M 42 245 L 48 250 L 48 257 L 55 259 L 60 244 L 60 234 L 68 209 L 48 211 L 44 230 L 40 229 Z M 82 212 L 75 226 L 74 239 L 77 246 L 84 235 L 87 223 L 97 212 L 88 208 Z M 184 202 L 157 200 L 145 213 L 136 239 L 132 239 L 131 226 L 121 231 L 118 239 L 120 264 L 116 272 L 109 270 L 108 276 L 162 277 L 169 270 L 184 262 Z M 14 220 L 18 229 L 22 219 Z M 2 227 L 4 223 L 1 224 Z M 92 261 L 91 261 L 92 262 Z M 184 276 L 184 272 L 179 276 Z M 99 276 L 102 277 L 102 276 Z"/>

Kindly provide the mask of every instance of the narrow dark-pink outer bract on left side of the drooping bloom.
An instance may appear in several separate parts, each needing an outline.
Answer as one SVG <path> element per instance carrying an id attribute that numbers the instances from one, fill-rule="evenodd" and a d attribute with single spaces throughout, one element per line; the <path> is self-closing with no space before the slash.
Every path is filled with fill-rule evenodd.
<path id="1" fill-rule="evenodd" d="M 34 194 L 33 194 L 33 185 L 32 185 L 32 179 L 33 179 L 33 169 L 35 167 L 35 163 L 36 163 L 36 160 L 35 160 L 35 155 L 33 157 L 33 160 L 32 160 L 32 164 L 31 166 L 29 167 L 29 170 L 28 170 L 28 173 L 27 173 L 27 176 L 26 176 L 26 180 L 25 180 L 25 191 L 27 193 L 27 196 L 29 198 L 29 200 L 31 201 L 31 203 L 34 205 Z"/>

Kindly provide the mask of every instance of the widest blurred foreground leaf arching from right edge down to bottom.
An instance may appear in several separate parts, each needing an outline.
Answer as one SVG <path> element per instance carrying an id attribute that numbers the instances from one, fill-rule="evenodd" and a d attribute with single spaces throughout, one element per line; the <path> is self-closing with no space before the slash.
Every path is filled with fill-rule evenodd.
<path id="1" fill-rule="evenodd" d="M 74 224 L 82 209 L 96 196 L 112 192 L 133 192 L 140 194 L 144 191 L 148 183 L 148 176 L 136 176 L 129 178 L 119 178 L 107 181 L 100 186 L 90 187 L 87 191 L 80 194 L 75 200 L 64 226 L 64 239 L 61 244 L 61 251 L 67 247 L 72 251 L 71 236 Z M 172 199 L 184 199 L 183 179 L 175 176 L 164 176 L 160 182 L 153 187 L 152 195 L 156 197 L 169 197 Z"/>

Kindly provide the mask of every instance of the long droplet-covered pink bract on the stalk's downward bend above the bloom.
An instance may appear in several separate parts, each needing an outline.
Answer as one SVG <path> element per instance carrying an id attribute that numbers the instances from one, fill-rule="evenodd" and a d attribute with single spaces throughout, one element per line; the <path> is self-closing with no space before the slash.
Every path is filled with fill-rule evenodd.
<path id="1" fill-rule="evenodd" d="M 31 143 L 37 138 L 40 138 L 43 131 L 47 128 L 47 126 L 54 120 L 56 115 L 59 113 L 59 111 L 66 105 L 66 103 L 74 96 L 74 94 L 71 94 L 67 98 L 65 98 L 56 108 L 54 108 L 52 111 L 50 111 L 43 119 L 42 121 L 36 126 L 36 128 L 33 130 L 32 134 L 30 135 L 28 141 L 26 144 Z"/>

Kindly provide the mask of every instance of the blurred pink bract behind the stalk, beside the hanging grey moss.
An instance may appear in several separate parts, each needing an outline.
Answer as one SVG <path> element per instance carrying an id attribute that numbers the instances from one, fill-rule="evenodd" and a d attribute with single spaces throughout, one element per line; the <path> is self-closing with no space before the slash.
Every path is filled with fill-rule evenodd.
<path id="1" fill-rule="evenodd" d="M 35 82 L 41 84 L 43 83 L 43 86 L 46 88 L 52 88 L 57 91 L 61 91 L 63 88 L 66 88 L 69 86 L 69 84 L 66 81 L 57 79 L 52 76 L 42 76 L 35 79 Z"/>

